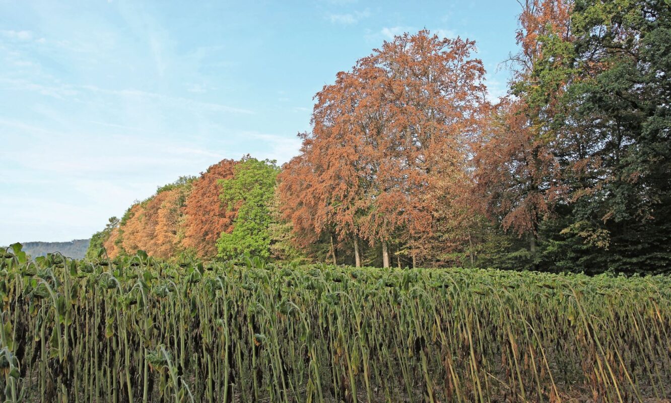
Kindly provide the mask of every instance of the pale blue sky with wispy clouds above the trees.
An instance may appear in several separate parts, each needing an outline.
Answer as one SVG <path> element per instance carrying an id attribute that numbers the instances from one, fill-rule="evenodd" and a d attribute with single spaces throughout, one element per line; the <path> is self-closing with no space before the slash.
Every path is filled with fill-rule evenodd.
<path id="1" fill-rule="evenodd" d="M 279 164 L 313 96 L 395 34 L 475 40 L 493 99 L 519 5 L 0 0 L 0 245 L 88 238 L 223 158 Z"/>

